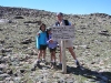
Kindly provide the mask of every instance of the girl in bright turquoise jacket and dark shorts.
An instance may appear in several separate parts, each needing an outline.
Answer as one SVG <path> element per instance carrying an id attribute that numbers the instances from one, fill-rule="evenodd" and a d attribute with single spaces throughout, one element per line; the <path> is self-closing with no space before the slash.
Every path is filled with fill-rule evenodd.
<path id="1" fill-rule="evenodd" d="M 37 49 L 38 52 L 38 60 L 36 62 L 36 65 L 40 65 L 40 58 L 42 56 L 42 61 L 46 61 L 46 49 L 47 49 L 47 31 L 46 31 L 46 24 L 42 23 L 40 25 L 40 30 L 37 33 Z"/>

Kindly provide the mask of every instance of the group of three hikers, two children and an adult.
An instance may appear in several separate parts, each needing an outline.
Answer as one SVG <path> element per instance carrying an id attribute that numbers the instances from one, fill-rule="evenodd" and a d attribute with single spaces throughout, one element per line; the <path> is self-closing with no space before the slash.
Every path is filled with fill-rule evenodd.
<path id="1" fill-rule="evenodd" d="M 68 20 L 64 20 L 63 19 L 63 13 L 62 12 L 59 12 L 57 13 L 57 22 L 54 23 L 54 27 L 58 25 L 58 27 L 61 27 L 61 25 L 72 25 Z M 50 66 L 51 68 L 54 68 L 57 66 L 57 61 L 56 61 L 56 50 L 57 50 L 57 46 L 59 44 L 59 48 L 60 48 L 60 54 L 59 54 L 59 59 L 60 59 L 60 62 L 59 62 L 59 68 L 62 68 L 62 53 L 61 53 L 61 41 L 56 41 L 56 40 L 52 40 L 52 32 L 51 32 L 51 28 L 47 28 L 44 23 L 42 23 L 40 25 L 40 30 L 39 32 L 37 33 L 37 49 L 38 49 L 38 58 L 34 62 L 34 70 L 36 68 L 41 68 L 40 65 L 40 62 L 46 62 L 46 50 L 47 48 L 49 49 L 49 52 L 50 52 Z M 73 43 L 72 43 L 72 40 L 65 40 L 65 48 L 68 49 L 68 51 L 71 53 L 73 60 L 74 60 L 74 63 L 77 64 L 78 68 L 80 68 L 80 63 L 75 56 L 75 53 L 73 51 Z"/>

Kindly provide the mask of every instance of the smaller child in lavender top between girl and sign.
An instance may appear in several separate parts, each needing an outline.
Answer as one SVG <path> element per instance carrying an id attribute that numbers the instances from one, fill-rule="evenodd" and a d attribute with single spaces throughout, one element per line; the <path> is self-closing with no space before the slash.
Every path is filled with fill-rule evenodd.
<path id="1" fill-rule="evenodd" d="M 48 48 L 51 54 L 51 68 L 56 66 L 56 50 L 57 50 L 57 45 L 58 42 L 52 40 L 52 33 L 51 33 L 51 28 L 47 29 L 47 43 L 48 43 Z"/>

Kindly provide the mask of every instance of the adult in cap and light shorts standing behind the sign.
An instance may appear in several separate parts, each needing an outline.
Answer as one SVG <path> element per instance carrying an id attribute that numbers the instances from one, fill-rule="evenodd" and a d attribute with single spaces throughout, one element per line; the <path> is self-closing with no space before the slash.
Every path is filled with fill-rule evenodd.
<path id="1" fill-rule="evenodd" d="M 54 25 L 71 25 L 71 23 L 68 21 L 68 20 L 64 20 L 63 19 L 63 13 L 62 12 L 59 12 L 57 13 L 57 22 Z M 58 41 L 59 45 L 61 44 L 61 41 Z M 79 61 L 77 60 L 77 56 L 75 56 L 75 53 L 73 52 L 73 43 L 71 40 L 67 40 L 65 41 L 65 48 L 69 50 L 69 52 L 71 53 L 71 55 L 73 56 L 73 59 L 75 60 L 75 64 L 78 68 L 80 68 L 80 63 Z M 62 62 L 61 62 L 61 46 L 60 46 L 60 63 L 59 63 L 59 66 L 62 68 Z"/>

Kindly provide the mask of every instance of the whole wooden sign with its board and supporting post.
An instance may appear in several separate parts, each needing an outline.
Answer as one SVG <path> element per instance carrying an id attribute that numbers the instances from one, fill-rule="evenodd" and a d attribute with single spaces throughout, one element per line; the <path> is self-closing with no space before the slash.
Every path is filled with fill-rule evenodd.
<path id="1" fill-rule="evenodd" d="M 65 62 L 65 40 L 74 39 L 74 28 L 71 25 L 62 27 L 51 27 L 52 39 L 61 40 L 61 59 L 62 59 L 62 72 L 67 73 L 67 62 Z"/>

